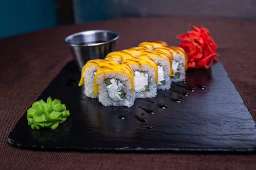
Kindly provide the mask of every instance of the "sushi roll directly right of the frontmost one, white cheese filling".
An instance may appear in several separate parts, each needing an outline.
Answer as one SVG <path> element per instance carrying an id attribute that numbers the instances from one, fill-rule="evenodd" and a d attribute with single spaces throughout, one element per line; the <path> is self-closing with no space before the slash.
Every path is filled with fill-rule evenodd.
<path id="1" fill-rule="evenodd" d="M 158 65 L 149 57 L 126 58 L 134 71 L 134 90 L 136 98 L 153 98 L 157 96 Z"/>

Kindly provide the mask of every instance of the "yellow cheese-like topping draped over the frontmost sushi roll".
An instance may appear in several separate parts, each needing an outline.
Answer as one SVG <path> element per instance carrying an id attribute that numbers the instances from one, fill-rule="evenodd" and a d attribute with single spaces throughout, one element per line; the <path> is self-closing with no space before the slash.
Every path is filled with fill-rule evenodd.
<path id="1" fill-rule="evenodd" d="M 98 85 L 97 85 L 97 77 L 99 74 L 104 74 L 107 72 L 121 72 L 130 78 L 131 87 L 134 90 L 134 82 L 133 82 L 133 69 L 128 64 L 119 64 L 119 63 L 105 63 L 98 67 L 98 70 L 94 77 L 94 95 L 98 93 Z M 115 78 L 115 77 L 113 77 Z"/>

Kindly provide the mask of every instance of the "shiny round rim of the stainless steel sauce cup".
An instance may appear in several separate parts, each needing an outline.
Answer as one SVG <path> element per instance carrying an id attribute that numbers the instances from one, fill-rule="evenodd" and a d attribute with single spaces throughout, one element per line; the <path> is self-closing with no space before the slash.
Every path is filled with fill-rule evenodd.
<path id="1" fill-rule="evenodd" d="M 95 44 L 83 44 L 83 45 L 78 45 L 78 44 L 71 44 L 71 43 L 68 43 L 68 39 L 70 37 L 73 37 L 73 36 L 76 36 L 76 35 L 79 35 L 79 34 L 90 34 L 90 33 L 102 33 L 102 32 L 107 32 L 107 33 L 112 33 L 112 34 L 115 34 L 116 37 L 109 40 L 109 41 L 104 41 L 104 42 L 100 42 L 100 43 L 95 43 Z M 78 33 L 75 33 L 75 34 L 71 34 L 71 35 L 68 35 L 65 39 L 64 39 L 64 43 L 67 44 L 68 46 L 71 46 L 71 47 L 84 47 L 84 46 L 98 46 L 98 45 L 103 45 L 103 44 L 107 44 L 107 43 L 111 43 L 113 41 L 116 41 L 117 39 L 119 38 L 119 34 L 114 32 L 114 31 L 110 31 L 110 30 L 88 30 L 88 31 L 82 31 L 82 32 L 78 32 Z"/>

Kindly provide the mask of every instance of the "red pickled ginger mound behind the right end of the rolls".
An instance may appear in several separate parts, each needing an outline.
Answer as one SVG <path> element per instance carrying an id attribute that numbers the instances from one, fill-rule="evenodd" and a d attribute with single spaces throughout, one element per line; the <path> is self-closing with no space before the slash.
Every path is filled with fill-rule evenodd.
<path id="1" fill-rule="evenodd" d="M 188 56 L 188 68 L 205 68 L 212 66 L 217 61 L 217 45 L 210 37 L 210 32 L 203 26 L 193 26 L 193 31 L 186 34 L 179 34 L 177 38 L 181 39 L 178 47 L 183 48 Z"/>

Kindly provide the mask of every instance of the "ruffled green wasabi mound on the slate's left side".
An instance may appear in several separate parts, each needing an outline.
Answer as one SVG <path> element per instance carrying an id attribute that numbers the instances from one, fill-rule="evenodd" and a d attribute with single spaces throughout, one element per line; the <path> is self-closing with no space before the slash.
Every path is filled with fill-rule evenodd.
<path id="1" fill-rule="evenodd" d="M 48 97 L 47 102 L 34 102 L 27 110 L 28 125 L 32 129 L 56 129 L 68 116 L 69 110 L 66 110 L 66 105 L 61 104 L 58 99 L 52 100 L 51 97 Z"/>

